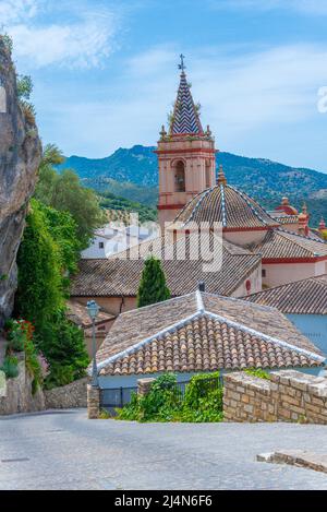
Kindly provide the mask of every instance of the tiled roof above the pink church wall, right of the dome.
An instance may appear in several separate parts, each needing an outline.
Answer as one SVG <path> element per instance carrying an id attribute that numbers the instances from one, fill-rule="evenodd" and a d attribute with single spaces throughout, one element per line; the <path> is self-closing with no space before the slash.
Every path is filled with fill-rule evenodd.
<path id="1" fill-rule="evenodd" d="M 251 247 L 263 259 L 327 257 L 327 243 L 283 229 L 270 229 L 264 240 Z"/>

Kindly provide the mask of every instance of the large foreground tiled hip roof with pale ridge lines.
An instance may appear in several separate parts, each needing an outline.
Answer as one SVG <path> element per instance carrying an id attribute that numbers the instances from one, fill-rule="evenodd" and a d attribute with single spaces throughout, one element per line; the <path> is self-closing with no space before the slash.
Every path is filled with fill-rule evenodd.
<path id="1" fill-rule="evenodd" d="M 97 353 L 99 374 L 322 366 L 282 313 L 193 293 L 122 313 Z"/>

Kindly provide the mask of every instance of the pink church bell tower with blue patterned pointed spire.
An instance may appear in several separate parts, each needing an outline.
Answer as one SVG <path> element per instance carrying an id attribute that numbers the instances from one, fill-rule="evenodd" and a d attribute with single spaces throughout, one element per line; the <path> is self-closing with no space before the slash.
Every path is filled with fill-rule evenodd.
<path id="1" fill-rule="evenodd" d="M 158 214 L 161 229 L 197 193 L 215 186 L 216 150 L 209 127 L 203 130 L 181 57 L 180 85 L 168 133 L 162 126 L 156 153 L 159 164 Z"/>

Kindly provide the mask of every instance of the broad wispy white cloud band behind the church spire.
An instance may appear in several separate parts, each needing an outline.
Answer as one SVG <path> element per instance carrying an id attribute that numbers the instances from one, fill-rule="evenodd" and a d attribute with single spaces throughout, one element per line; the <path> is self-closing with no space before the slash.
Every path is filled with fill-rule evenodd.
<path id="1" fill-rule="evenodd" d="M 58 122 L 57 133 L 62 117 L 66 130 L 76 133 L 72 141 L 73 135 L 62 132 L 58 143 L 66 153 L 85 156 L 155 143 L 175 97 L 179 52 L 172 46 L 152 48 L 123 63 L 119 93 L 114 84 L 108 84 L 108 92 L 102 84 L 96 102 L 85 98 L 74 105 L 64 102 L 60 109 L 50 107 L 48 117 Z M 305 132 L 308 122 L 322 117 L 317 91 L 327 83 L 327 47 L 281 46 L 239 57 L 207 48 L 193 52 L 192 59 L 186 52 L 186 67 L 194 99 L 203 106 L 202 121 L 210 124 L 217 146 L 227 151 L 242 152 L 251 139 L 249 145 L 257 147 L 257 139 L 267 145 L 270 141 L 272 154 L 281 130 L 302 126 Z M 88 128 L 85 133 L 81 126 Z"/>

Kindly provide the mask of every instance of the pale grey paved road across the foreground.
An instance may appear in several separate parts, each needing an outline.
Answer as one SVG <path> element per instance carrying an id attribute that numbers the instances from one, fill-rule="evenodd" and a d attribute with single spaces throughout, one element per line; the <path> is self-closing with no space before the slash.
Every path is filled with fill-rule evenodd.
<path id="1" fill-rule="evenodd" d="M 327 427 L 87 420 L 85 409 L 0 419 L 0 489 L 327 489 L 327 475 L 255 461 L 326 452 Z M 15 461 L 16 460 L 16 461 Z"/>

